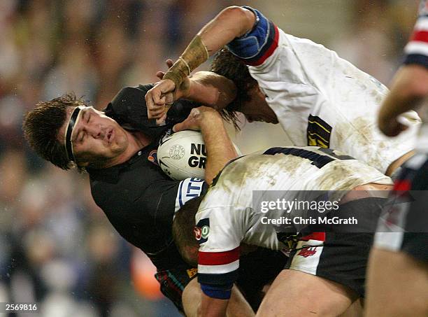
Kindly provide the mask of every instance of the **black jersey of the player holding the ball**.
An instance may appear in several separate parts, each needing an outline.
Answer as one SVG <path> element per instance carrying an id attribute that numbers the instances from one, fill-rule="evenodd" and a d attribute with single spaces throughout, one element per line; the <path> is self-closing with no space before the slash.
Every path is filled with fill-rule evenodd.
<path id="1" fill-rule="evenodd" d="M 170 124 L 157 127 L 147 118 L 145 92 L 152 85 L 125 87 L 106 108 L 106 115 L 127 129 L 155 138 L 127 162 L 107 169 L 88 169 L 92 197 L 124 239 L 141 248 L 157 269 L 185 265 L 173 244 L 173 215 L 187 200 L 200 195 L 204 181 L 173 181 L 156 164 L 157 139 L 173 120 L 183 119 L 192 103 L 181 101 L 169 112 Z M 181 117 L 181 118 L 180 118 Z"/>

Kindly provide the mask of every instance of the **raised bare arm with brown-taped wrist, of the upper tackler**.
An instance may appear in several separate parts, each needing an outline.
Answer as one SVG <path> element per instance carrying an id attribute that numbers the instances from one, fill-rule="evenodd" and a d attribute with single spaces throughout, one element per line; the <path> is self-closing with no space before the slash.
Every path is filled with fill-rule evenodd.
<path id="1" fill-rule="evenodd" d="M 238 6 L 225 8 L 208 22 L 193 38 L 183 55 L 165 73 L 164 78 L 145 95 L 145 101 L 151 111 L 149 118 L 161 118 L 166 110 L 165 95 L 176 89 L 180 90 L 185 78 L 197 66 L 234 38 L 250 31 L 255 22 L 256 17 L 251 10 Z"/>

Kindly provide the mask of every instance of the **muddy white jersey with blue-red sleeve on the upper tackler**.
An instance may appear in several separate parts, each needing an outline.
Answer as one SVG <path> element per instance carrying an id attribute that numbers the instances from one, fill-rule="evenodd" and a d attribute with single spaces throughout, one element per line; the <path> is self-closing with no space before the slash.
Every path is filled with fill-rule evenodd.
<path id="1" fill-rule="evenodd" d="M 420 118 L 402 115 L 410 126 L 389 139 L 376 118 L 387 88 L 336 52 L 278 29 L 262 13 L 252 31 L 227 46 L 248 64 L 285 133 L 296 146 L 334 148 L 385 173 L 415 146 Z"/>

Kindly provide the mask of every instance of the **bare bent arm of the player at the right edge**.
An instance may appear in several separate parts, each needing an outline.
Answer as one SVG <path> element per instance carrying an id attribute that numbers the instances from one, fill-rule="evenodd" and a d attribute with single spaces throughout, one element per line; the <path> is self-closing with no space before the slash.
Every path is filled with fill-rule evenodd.
<path id="1" fill-rule="evenodd" d="M 428 69 L 416 64 L 403 66 L 395 75 L 390 93 L 383 101 L 378 116 L 379 129 L 387 136 L 397 136 L 407 129 L 397 117 L 428 96 Z"/>

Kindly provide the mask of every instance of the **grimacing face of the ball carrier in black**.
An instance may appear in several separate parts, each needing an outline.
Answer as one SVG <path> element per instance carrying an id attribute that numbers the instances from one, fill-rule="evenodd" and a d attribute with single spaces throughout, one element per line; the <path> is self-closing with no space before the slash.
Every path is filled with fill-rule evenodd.
<path id="1" fill-rule="evenodd" d="M 74 107 L 67 110 L 67 118 L 59 129 L 58 139 L 64 143 L 64 133 Z M 78 164 L 108 165 L 124 153 L 129 144 L 125 130 L 113 119 L 92 107 L 80 111 L 71 134 L 73 154 Z"/>

